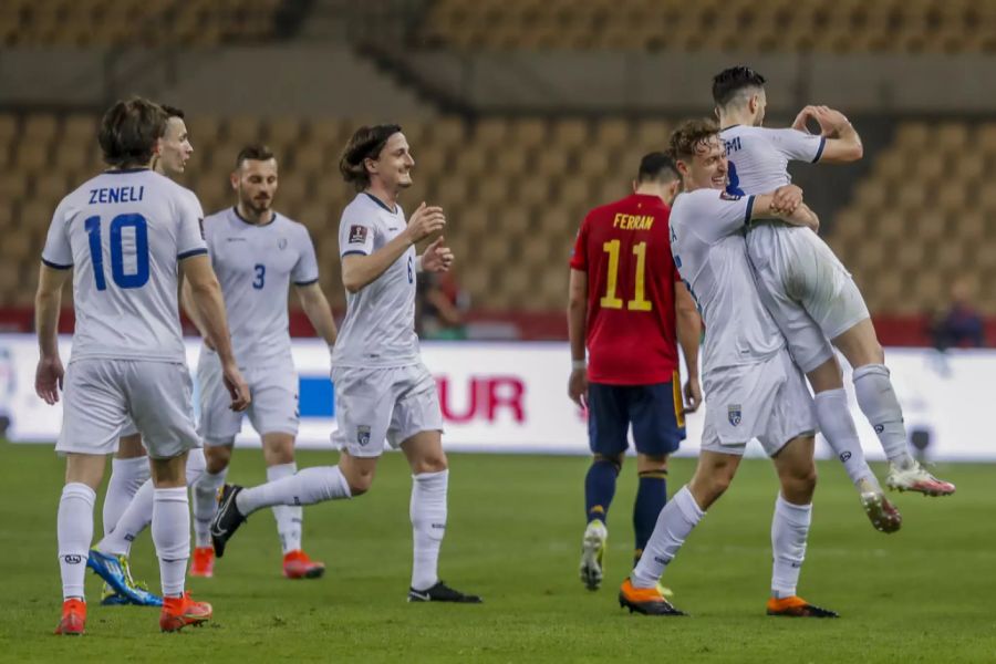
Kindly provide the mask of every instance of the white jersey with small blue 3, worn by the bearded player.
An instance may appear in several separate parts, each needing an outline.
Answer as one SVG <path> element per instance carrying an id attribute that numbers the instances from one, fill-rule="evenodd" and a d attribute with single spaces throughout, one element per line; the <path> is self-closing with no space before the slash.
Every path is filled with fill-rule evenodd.
<path id="1" fill-rule="evenodd" d="M 206 218 L 204 231 L 239 366 L 291 362 L 288 289 L 319 279 L 308 228 L 276 211 L 250 224 L 231 207 Z"/>

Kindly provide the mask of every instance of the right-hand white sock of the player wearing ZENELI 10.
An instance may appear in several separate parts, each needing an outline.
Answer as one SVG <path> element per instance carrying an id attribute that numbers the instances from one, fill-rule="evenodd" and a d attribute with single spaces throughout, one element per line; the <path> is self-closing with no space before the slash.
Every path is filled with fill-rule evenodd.
<path id="1" fill-rule="evenodd" d="M 159 557 L 163 596 L 184 594 L 190 558 L 190 506 L 187 487 L 156 489 L 153 507 L 153 541 Z"/>

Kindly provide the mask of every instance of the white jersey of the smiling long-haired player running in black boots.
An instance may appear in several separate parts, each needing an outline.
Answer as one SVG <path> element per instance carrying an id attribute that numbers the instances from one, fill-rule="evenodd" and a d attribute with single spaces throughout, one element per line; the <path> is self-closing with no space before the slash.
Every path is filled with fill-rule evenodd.
<path id="1" fill-rule="evenodd" d="M 401 206 L 361 193 L 342 212 L 339 253 L 370 256 L 404 232 Z M 346 292 L 346 315 L 332 353 L 333 366 L 393 367 L 418 362 L 415 334 L 415 248 L 394 261 L 383 274 Z"/>

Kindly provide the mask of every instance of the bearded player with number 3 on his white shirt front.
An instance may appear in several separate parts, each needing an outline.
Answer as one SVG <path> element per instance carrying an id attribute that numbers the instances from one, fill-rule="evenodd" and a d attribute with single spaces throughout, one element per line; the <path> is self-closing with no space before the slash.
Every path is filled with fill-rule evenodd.
<path id="1" fill-rule="evenodd" d="M 287 315 L 291 284 L 330 352 L 335 344 L 335 320 L 319 286 L 314 245 L 308 228 L 273 210 L 277 186 L 273 153 L 262 145 L 246 146 L 231 174 L 236 205 L 204 221 L 211 264 L 225 295 L 236 357 L 252 392 L 252 405 L 246 414 L 262 439 L 270 481 L 298 471 L 298 372 L 291 357 Z M 195 322 L 203 329 L 200 321 Z M 218 354 L 205 342 L 197 382 L 198 433 L 205 444 L 207 473 L 194 485 L 193 577 L 214 575 L 210 525 L 232 445 L 242 426 L 242 414 L 227 407 L 221 378 Z M 300 505 L 273 507 L 283 549 L 283 575 L 288 579 L 315 579 L 325 571 L 324 563 L 311 560 L 301 549 L 302 512 Z"/>

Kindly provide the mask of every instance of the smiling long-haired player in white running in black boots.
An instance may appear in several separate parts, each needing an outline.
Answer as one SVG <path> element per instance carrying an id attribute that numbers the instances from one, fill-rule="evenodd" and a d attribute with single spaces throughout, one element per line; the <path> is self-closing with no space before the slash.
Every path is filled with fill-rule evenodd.
<path id="1" fill-rule="evenodd" d="M 440 231 L 446 219 L 440 208 L 424 203 L 405 219 L 397 198 L 412 185 L 414 165 L 397 125 L 361 127 L 340 160 L 343 178 L 357 195 L 339 226 L 346 289 L 346 315 L 332 353 L 339 465 L 305 468 L 253 488 L 226 485 L 211 539 L 220 557 L 236 529 L 258 509 L 367 491 L 386 439 L 402 449 L 413 474 L 408 601 L 479 603 L 479 596 L 454 590 L 437 575 L 449 470 L 436 384 L 422 363 L 415 335 L 415 274 L 448 270 L 453 253 L 439 237 L 425 253 L 415 255 L 414 245 Z"/>

